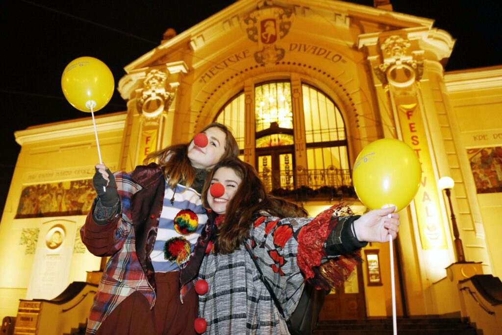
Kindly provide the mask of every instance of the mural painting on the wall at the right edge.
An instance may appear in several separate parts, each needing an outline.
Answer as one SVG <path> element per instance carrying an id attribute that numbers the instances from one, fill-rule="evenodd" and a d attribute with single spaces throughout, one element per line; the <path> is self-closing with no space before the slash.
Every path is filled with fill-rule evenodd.
<path id="1" fill-rule="evenodd" d="M 467 149 L 477 193 L 502 192 L 502 146 Z"/>

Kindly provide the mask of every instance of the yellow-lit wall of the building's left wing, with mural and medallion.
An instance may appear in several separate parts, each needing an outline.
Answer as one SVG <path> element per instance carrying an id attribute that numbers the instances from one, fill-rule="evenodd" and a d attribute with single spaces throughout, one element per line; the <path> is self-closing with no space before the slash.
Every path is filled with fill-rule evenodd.
<path id="1" fill-rule="evenodd" d="M 125 120 L 124 112 L 96 118 L 111 170 L 118 166 Z M 54 298 L 100 264 L 78 233 L 99 162 L 91 119 L 33 126 L 15 136 L 21 151 L 0 224 L 0 318 L 15 316 L 19 299 Z"/>

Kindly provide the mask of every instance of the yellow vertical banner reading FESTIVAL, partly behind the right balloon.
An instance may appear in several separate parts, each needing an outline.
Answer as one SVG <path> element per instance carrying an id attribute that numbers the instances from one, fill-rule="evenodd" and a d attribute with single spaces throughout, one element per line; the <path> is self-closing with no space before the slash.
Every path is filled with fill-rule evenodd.
<path id="1" fill-rule="evenodd" d="M 422 249 L 447 249 L 434 167 L 421 110 L 416 103 L 398 104 L 398 115 L 403 141 L 417 152 L 422 165 L 422 181 L 414 199 Z"/>

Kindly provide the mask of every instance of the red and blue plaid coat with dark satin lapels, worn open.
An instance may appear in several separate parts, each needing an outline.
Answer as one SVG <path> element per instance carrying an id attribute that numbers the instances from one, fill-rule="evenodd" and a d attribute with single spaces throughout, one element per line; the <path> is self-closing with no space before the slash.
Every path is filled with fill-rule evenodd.
<path id="1" fill-rule="evenodd" d="M 92 254 L 111 256 L 94 297 L 86 334 L 94 334 L 113 309 L 134 291 L 147 298 L 150 308 L 155 305 L 155 272 L 149 255 L 157 236 L 164 201 L 164 172 L 157 164 L 151 163 L 137 166 L 131 174 L 118 172 L 115 181 L 120 202 L 118 208 L 111 210 L 117 214 L 108 223 L 96 223 L 92 215 L 100 205 L 96 198 L 80 231 L 82 242 Z M 197 274 L 209 231 L 208 221 L 190 260 L 179 271 L 180 299 L 191 287 L 191 281 Z"/>

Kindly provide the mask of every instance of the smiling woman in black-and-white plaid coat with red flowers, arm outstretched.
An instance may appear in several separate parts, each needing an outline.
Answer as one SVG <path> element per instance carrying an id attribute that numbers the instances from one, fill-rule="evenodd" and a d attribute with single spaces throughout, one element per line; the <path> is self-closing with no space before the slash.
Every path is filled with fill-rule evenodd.
<path id="1" fill-rule="evenodd" d="M 208 181 L 203 203 L 219 216 L 195 284 L 207 287 L 199 292 L 198 332 L 288 333 L 250 254 L 289 319 L 305 279 L 316 288 L 340 285 L 359 261 L 361 247 L 397 236 L 394 208 L 358 216 L 335 205 L 307 218 L 303 209 L 267 195 L 255 169 L 237 158 L 216 164 Z"/>

